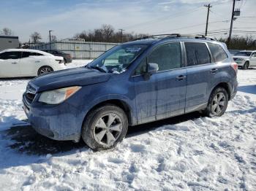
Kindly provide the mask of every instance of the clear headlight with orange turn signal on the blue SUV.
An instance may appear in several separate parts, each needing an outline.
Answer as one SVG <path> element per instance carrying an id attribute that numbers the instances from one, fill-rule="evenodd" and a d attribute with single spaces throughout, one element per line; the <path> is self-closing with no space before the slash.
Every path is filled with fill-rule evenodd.
<path id="1" fill-rule="evenodd" d="M 80 86 L 73 87 L 64 87 L 57 90 L 50 90 L 41 93 L 39 97 L 39 102 L 45 104 L 61 104 L 61 102 L 65 101 L 71 95 L 80 90 Z"/>

